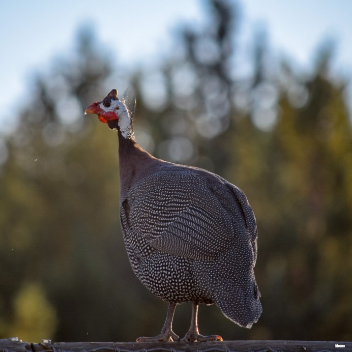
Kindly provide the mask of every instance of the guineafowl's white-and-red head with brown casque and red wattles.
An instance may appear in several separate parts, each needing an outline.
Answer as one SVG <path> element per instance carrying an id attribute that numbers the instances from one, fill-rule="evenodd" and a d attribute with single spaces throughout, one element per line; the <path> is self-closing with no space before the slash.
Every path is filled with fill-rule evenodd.
<path id="1" fill-rule="evenodd" d="M 84 114 L 94 113 L 99 121 L 110 128 L 119 128 L 125 138 L 130 138 L 131 119 L 125 101 L 118 98 L 118 91 L 113 89 L 102 101 L 96 101 L 87 107 Z"/>

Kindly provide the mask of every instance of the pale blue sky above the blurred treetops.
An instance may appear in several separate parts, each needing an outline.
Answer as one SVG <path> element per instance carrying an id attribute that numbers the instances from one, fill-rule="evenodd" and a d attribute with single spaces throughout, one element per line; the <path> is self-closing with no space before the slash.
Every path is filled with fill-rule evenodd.
<path id="1" fill-rule="evenodd" d="M 235 0 L 233 0 L 235 2 Z M 255 28 L 266 28 L 271 50 L 309 68 L 324 38 L 337 43 L 335 67 L 352 73 L 352 1 L 239 0 L 243 47 Z M 172 43 L 180 23 L 197 25 L 204 18 L 202 0 L 0 0 L 0 133 L 6 118 L 30 95 L 30 79 L 54 57 L 74 47 L 83 24 L 95 28 L 99 41 L 124 65 L 153 62 Z M 111 40 L 114 38 L 114 40 Z M 118 38 L 119 45 L 116 46 Z M 6 130 L 6 128 L 5 128 Z"/>

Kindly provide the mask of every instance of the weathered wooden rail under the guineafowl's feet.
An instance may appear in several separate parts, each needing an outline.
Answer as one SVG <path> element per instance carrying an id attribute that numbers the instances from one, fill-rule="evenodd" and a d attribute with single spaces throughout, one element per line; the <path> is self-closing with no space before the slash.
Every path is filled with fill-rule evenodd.
<path id="1" fill-rule="evenodd" d="M 55 342 L 0 339 L 0 352 L 352 352 L 346 341 Z"/>

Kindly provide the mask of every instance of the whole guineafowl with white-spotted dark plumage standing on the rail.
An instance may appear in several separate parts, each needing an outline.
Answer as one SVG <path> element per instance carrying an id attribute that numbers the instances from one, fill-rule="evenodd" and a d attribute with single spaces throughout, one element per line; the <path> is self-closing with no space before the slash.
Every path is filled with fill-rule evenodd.
<path id="1" fill-rule="evenodd" d="M 85 109 L 117 130 L 120 222 L 131 267 L 141 283 L 168 302 L 162 331 L 149 341 L 222 341 L 199 333 L 198 305 L 215 304 L 244 328 L 262 312 L 255 281 L 257 225 L 243 191 L 205 169 L 158 159 L 133 134 L 133 116 L 116 89 Z M 178 304 L 191 302 L 183 339 L 172 330 Z"/>

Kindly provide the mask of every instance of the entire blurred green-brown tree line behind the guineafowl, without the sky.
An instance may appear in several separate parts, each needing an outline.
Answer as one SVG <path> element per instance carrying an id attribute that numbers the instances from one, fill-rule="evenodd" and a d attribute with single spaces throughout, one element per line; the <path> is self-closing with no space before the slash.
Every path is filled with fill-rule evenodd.
<path id="1" fill-rule="evenodd" d="M 352 132 L 331 48 L 309 74 L 268 65 L 257 35 L 238 77 L 237 9 L 209 2 L 177 53 L 123 77 L 92 33 L 34 79 L 0 165 L 0 337 L 132 341 L 159 333 L 166 304 L 134 277 L 119 223 L 118 140 L 84 107 L 112 78 L 137 98 L 135 134 L 164 159 L 242 188 L 257 218 L 263 313 L 251 330 L 200 307 L 203 334 L 225 339 L 346 340 L 352 331 Z M 273 64 L 271 64 L 273 65 Z M 276 72 L 276 74 L 273 74 Z M 6 157 L 7 156 L 7 157 Z M 190 305 L 175 316 L 188 329 Z M 216 329 L 216 330 L 215 330 Z"/>

